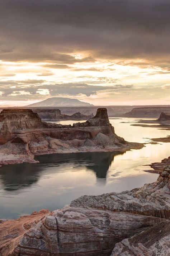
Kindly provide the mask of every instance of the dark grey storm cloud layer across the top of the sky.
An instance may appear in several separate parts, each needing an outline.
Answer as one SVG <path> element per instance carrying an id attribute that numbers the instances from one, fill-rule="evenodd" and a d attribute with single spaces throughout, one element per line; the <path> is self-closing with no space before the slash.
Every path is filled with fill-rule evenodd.
<path id="1" fill-rule="evenodd" d="M 169 24 L 169 0 L 0 0 L 0 59 L 145 58 L 166 68 Z M 76 59 L 76 51 L 92 57 Z"/>

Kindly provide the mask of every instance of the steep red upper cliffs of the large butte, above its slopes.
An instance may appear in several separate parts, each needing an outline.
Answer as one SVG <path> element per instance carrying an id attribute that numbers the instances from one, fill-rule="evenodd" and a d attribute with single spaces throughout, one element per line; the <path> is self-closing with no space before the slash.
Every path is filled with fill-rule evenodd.
<path id="1" fill-rule="evenodd" d="M 16 138 L 27 143 L 28 140 L 33 140 L 33 135 L 36 136 L 37 141 L 40 134 L 62 140 L 91 139 L 98 133 L 114 134 L 109 123 L 107 109 L 103 108 L 98 109 L 95 117 L 73 126 L 42 122 L 38 114 L 31 109 L 4 109 L 0 113 L 0 122 L 0 144 L 13 139 L 16 141 Z"/>

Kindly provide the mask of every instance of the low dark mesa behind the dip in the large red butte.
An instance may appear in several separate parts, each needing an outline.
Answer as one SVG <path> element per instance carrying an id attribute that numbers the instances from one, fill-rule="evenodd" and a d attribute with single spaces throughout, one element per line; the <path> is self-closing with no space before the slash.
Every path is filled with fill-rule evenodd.
<path id="1" fill-rule="evenodd" d="M 58 121 L 58 120 L 87 120 L 93 117 L 93 114 L 85 115 L 76 112 L 72 115 L 61 114 L 60 109 L 33 109 L 43 121 Z"/>

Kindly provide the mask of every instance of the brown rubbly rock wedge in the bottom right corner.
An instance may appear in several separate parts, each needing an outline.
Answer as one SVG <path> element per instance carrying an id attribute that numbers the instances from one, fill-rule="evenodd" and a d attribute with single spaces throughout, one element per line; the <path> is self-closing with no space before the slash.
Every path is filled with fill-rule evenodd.
<path id="1" fill-rule="evenodd" d="M 117 243 L 111 256 L 170 255 L 170 221 L 158 223 Z"/>

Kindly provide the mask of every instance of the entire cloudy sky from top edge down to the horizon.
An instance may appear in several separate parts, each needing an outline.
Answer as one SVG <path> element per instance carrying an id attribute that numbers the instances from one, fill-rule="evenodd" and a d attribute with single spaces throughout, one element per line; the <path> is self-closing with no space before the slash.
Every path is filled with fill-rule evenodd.
<path id="1" fill-rule="evenodd" d="M 0 106 L 170 104 L 169 0 L 0 0 Z"/>

